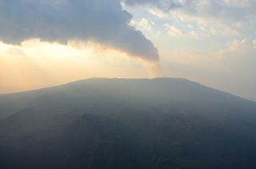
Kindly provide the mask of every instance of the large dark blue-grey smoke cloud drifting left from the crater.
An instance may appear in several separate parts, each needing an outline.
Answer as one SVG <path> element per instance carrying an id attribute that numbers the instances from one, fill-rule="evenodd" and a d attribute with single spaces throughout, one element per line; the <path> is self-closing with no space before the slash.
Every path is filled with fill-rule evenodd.
<path id="1" fill-rule="evenodd" d="M 158 60 L 158 49 L 129 26 L 132 16 L 120 0 L 0 0 L 0 40 L 28 38 L 66 43 L 96 41 L 146 60 Z"/>

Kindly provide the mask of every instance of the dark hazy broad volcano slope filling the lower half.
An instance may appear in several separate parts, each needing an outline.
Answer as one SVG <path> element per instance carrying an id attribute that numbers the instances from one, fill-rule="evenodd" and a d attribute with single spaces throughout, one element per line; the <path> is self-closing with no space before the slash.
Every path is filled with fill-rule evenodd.
<path id="1" fill-rule="evenodd" d="M 256 168 L 256 103 L 182 79 L 0 95 L 0 168 Z"/>

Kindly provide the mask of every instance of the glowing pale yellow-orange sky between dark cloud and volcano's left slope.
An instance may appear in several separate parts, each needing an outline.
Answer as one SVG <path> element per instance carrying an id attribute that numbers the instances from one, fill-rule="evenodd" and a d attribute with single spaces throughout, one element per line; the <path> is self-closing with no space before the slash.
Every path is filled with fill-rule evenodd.
<path id="1" fill-rule="evenodd" d="M 44 88 L 90 77 L 152 77 L 149 65 L 154 64 L 93 42 L 0 42 L 0 92 Z"/>

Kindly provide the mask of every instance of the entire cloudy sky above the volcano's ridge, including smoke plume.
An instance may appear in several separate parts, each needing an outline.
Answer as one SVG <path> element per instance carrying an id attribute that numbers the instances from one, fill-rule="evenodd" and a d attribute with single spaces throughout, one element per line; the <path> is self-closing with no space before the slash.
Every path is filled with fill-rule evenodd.
<path id="1" fill-rule="evenodd" d="M 0 93 L 181 77 L 256 100 L 255 0 L 0 0 Z"/>

